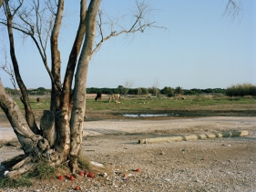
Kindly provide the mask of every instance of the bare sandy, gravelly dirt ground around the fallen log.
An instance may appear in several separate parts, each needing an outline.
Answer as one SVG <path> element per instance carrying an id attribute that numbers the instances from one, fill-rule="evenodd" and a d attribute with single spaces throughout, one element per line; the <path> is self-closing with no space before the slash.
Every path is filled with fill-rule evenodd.
<path id="1" fill-rule="evenodd" d="M 138 144 L 139 139 L 248 130 L 248 136 Z M 12 140 L 13 139 L 13 140 Z M 11 142 L 7 141 L 12 140 Z M 95 178 L 35 181 L 2 191 L 256 191 L 256 117 L 88 115 L 82 153 L 106 168 Z M 0 116 L 0 162 L 22 154 Z M 137 172 L 135 169 L 139 168 Z"/>

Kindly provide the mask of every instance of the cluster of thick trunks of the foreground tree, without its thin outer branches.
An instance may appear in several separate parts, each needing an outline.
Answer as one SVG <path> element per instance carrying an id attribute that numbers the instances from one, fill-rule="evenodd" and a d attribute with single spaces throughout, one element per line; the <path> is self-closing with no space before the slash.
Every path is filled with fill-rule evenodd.
<path id="1" fill-rule="evenodd" d="M 64 0 L 57 3 L 55 20 L 53 22 L 50 34 L 51 47 L 51 71 L 46 64 L 44 55 L 45 47 L 40 43 L 43 39 L 39 36 L 39 42 L 36 40 L 35 31 L 21 31 L 36 42 L 40 55 L 43 58 L 46 69 L 52 80 L 51 106 L 50 110 L 44 111 L 40 121 L 40 129 L 36 126 L 33 111 L 29 105 L 26 86 L 23 83 L 19 73 L 18 62 L 15 57 L 15 42 L 13 32 L 13 18 L 22 7 L 23 1 L 19 2 L 14 9 L 9 8 L 8 1 L 5 1 L 6 26 L 9 34 L 10 55 L 15 71 L 15 78 L 20 87 L 22 96 L 21 100 L 26 109 L 26 118 L 16 105 L 15 101 L 5 93 L 5 87 L 0 85 L 0 106 L 5 111 L 19 142 L 24 149 L 26 158 L 18 162 L 9 176 L 24 173 L 26 170 L 33 168 L 34 163 L 38 160 L 48 161 L 51 165 L 61 164 L 69 160 L 69 166 L 72 172 L 76 171 L 77 158 L 80 153 L 83 136 L 83 122 L 86 106 L 86 86 L 87 86 L 87 69 L 93 55 L 93 45 L 97 30 L 97 14 L 101 0 L 91 0 L 87 9 L 87 0 L 81 0 L 80 24 L 77 29 L 77 36 L 68 60 L 64 84 L 61 84 L 60 78 L 60 52 L 58 50 L 58 35 L 61 21 L 63 18 Z M 1 3 L 2 5 L 3 3 Z M 16 8 L 16 9 L 15 9 Z M 39 13 L 37 7 L 34 7 L 36 15 Z M 32 9 L 33 10 L 33 9 Z M 27 16 L 27 15 L 26 15 Z M 18 17 L 18 16 L 17 16 Z M 27 17 L 22 18 L 26 23 Z M 28 19 L 28 23 L 31 20 Z M 26 23 L 26 25 L 28 24 Z M 29 23 L 29 26 L 34 24 Z M 37 24 L 36 24 L 37 26 Z M 40 27 L 36 27 L 40 28 Z M 18 27 L 15 28 L 19 30 Z M 50 29 L 49 31 L 50 32 Z M 39 32 L 37 35 L 41 35 Z M 85 38 L 85 40 L 84 40 Z M 84 40 L 84 42 L 83 42 Z M 41 45 L 41 47 L 39 46 Z M 80 50 L 83 45 L 83 49 Z M 77 58 L 80 58 L 77 62 Z M 75 88 L 71 93 L 72 80 L 77 67 L 77 76 L 75 76 Z M 74 99 L 75 97 L 75 99 Z M 39 102 L 39 98 L 36 99 Z"/>

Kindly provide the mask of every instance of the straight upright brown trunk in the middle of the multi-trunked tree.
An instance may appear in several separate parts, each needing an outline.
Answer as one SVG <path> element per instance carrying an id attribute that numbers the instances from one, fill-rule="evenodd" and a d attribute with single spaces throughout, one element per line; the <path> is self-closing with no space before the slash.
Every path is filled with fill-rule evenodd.
<path id="1" fill-rule="evenodd" d="M 70 150 L 70 126 L 68 110 L 60 108 L 61 103 L 61 79 L 60 79 L 60 52 L 58 50 L 58 35 L 63 17 L 64 0 L 58 0 L 56 20 L 51 34 L 51 56 L 52 56 L 52 82 L 51 107 L 56 118 L 56 144 L 55 148 L 63 157 L 68 156 Z M 69 101 L 67 101 L 69 103 Z"/>

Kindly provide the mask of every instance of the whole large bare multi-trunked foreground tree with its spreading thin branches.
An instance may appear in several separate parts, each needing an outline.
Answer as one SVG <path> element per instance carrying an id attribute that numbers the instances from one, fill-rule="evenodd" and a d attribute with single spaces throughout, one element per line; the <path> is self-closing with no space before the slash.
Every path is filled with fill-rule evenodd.
<path id="1" fill-rule="evenodd" d="M 40 0 L 18 0 L 11 4 L 11 0 L 4 0 L 5 17 L 0 17 L 0 24 L 4 25 L 8 32 L 14 76 L 26 109 L 25 117 L 15 101 L 6 94 L 5 87 L 0 81 L 0 106 L 25 152 L 24 159 L 8 173 L 9 177 L 15 177 L 30 170 L 38 160 L 47 161 L 52 166 L 68 162 L 72 172 L 75 173 L 83 136 L 87 69 L 91 57 L 102 43 L 111 37 L 144 32 L 150 27 L 158 27 L 155 22 L 148 20 L 147 16 L 151 10 L 144 1 L 141 3 L 136 1 L 137 11 L 132 15 L 133 22 L 125 28 L 118 24 L 118 19 L 112 23 L 109 19 L 107 23 L 103 22 L 104 14 L 99 10 L 101 0 L 90 0 L 88 3 L 87 0 L 81 0 L 77 35 L 74 36 L 74 44 L 71 47 L 66 74 L 62 82 L 58 39 L 65 4 L 64 0 L 57 0 L 56 5 L 51 2 L 49 0 L 44 4 Z M 3 5 L 2 0 L 0 7 L 1 3 Z M 111 25 L 110 31 L 105 30 L 105 24 Z M 29 105 L 26 86 L 15 56 L 16 32 L 33 40 L 51 80 L 51 105 L 49 110 L 44 111 L 40 128 L 36 126 L 35 116 Z M 96 35 L 100 36 L 98 42 L 95 42 Z M 47 43 L 50 44 L 51 67 L 47 63 Z M 71 92 L 74 79 L 75 87 Z M 132 86 L 131 82 L 128 86 Z"/>

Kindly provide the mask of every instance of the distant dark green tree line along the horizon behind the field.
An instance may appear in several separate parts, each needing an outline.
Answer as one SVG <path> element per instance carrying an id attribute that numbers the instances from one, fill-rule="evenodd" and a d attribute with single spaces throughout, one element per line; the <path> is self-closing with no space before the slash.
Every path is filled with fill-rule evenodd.
<path id="1" fill-rule="evenodd" d="M 5 90 L 13 96 L 18 95 L 19 90 L 11 89 L 6 87 Z M 28 89 L 28 95 L 30 96 L 47 96 L 50 95 L 51 89 L 46 89 L 44 87 L 38 87 L 36 89 Z M 124 86 L 118 86 L 117 88 L 97 88 L 97 87 L 89 87 L 87 88 L 87 94 L 121 94 L 121 95 L 137 95 L 137 96 L 145 96 L 145 95 L 152 95 L 152 96 L 193 96 L 193 95 L 201 95 L 201 94 L 222 94 L 226 96 L 256 96 L 256 86 L 251 84 L 238 84 L 234 86 L 229 86 L 227 89 L 223 88 L 207 88 L 207 89 L 199 89 L 199 88 L 192 88 L 192 89 L 183 89 L 180 86 L 175 88 L 170 86 L 165 86 L 162 89 L 159 89 L 155 86 L 152 87 L 138 87 L 138 88 L 127 88 Z"/>

